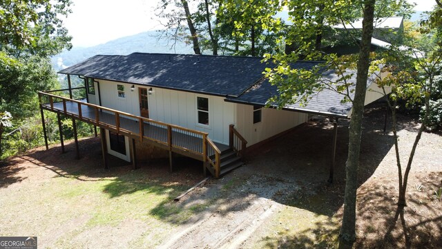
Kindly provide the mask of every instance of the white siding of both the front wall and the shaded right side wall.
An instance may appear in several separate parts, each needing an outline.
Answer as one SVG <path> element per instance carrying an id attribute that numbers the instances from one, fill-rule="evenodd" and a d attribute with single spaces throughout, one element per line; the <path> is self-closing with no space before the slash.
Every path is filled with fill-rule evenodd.
<path id="1" fill-rule="evenodd" d="M 140 116 L 139 87 L 100 80 L 102 106 Z M 126 98 L 119 98 L 117 84 L 124 85 Z M 147 87 L 150 88 L 150 87 Z M 97 91 L 98 92 L 98 91 Z M 98 95 L 97 99 L 98 99 Z M 197 97 L 209 98 L 209 125 L 198 124 Z M 307 114 L 276 109 L 262 109 L 262 121 L 253 124 L 253 106 L 225 102 L 223 97 L 169 89 L 153 88 L 148 95 L 149 118 L 209 133 L 215 142 L 229 144 L 229 124 L 246 138 L 249 145 L 307 121 Z"/>

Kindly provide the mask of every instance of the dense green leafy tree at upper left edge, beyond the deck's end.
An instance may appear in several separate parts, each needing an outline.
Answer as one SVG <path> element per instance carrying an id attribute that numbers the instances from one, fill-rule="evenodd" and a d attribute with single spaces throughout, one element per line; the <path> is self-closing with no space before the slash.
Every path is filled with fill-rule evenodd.
<path id="1" fill-rule="evenodd" d="M 34 115 L 37 91 L 56 84 L 50 56 L 70 48 L 59 19 L 68 15 L 69 5 L 69 0 L 0 1 L 0 113 L 10 112 L 17 122 Z"/>

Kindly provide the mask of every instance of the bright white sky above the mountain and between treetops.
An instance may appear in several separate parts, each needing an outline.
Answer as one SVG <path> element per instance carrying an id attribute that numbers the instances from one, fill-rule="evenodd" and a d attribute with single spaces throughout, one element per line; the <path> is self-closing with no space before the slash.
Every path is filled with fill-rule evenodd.
<path id="1" fill-rule="evenodd" d="M 64 24 L 73 36 L 74 47 L 104 44 L 119 37 L 162 29 L 155 17 L 160 0 L 73 0 L 73 12 Z M 407 0 L 417 3 L 416 11 L 432 10 L 434 0 Z"/>

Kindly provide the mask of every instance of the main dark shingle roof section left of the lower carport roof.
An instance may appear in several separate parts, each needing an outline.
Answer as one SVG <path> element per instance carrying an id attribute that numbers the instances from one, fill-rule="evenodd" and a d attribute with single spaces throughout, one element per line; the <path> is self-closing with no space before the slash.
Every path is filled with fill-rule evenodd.
<path id="1" fill-rule="evenodd" d="M 133 53 L 97 55 L 59 73 L 212 95 L 240 95 L 269 65 L 259 57 Z"/>

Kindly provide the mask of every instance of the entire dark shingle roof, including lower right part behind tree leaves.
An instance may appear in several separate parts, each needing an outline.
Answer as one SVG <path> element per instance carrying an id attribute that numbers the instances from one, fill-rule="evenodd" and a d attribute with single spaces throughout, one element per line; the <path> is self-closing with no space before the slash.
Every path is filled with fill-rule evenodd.
<path id="1" fill-rule="evenodd" d="M 265 68 L 273 65 L 261 61 L 260 57 L 211 55 L 96 55 L 59 73 L 222 95 L 227 96 L 228 102 L 265 105 L 269 98 L 278 94 L 278 89 L 262 77 Z M 320 63 L 296 62 L 291 66 L 312 68 Z M 354 73 L 350 81 L 356 82 L 356 72 L 349 73 Z M 323 72 L 323 77 L 332 82 L 337 79 L 332 71 Z M 313 95 L 305 107 L 290 104 L 284 109 L 347 118 L 352 103 L 341 103 L 343 98 L 343 95 L 325 89 Z"/>

